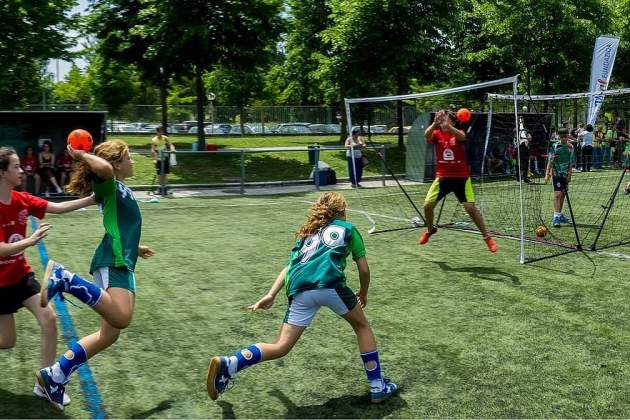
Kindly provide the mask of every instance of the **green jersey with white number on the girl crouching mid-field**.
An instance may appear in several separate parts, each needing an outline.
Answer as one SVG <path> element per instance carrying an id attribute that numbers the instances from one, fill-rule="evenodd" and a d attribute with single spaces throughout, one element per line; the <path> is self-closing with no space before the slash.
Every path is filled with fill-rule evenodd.
<path id="1" fill-rule="evenodd" d="M 344 220 L 334 219 L 319 232 L 298 239 L 291 250 L 285 277 L 287 296 L 309 289 L 333 289 L 346 285 L 346 257 L 365 256 L 359 231 Z"/>

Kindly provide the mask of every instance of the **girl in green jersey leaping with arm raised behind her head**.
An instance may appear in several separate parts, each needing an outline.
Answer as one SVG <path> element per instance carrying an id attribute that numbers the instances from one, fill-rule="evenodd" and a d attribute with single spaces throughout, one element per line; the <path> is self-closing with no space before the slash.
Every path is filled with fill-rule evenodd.
<path id="1" fill-rule="evenodd" d="M 68 150 L 78 165 L 67 190 L 83 196 L 94 193 L 103 214 L 105 235 L 92 258 L 93 283 L 52 260 L 44 274 L 42 307 L 54 296 L 63 298 L 64 294 L 70 294 L 101 316 L 98 331 L 73 343 L 57 363 L 37 372 L 37 381 L 46 397 L 60 410 L 70 374 L 114 344 L 120 331 L 131 323 L 136 298 L 136 261 L 138 256 L 153 255 L 151 248 L 140 245 L 140 208 L 133 191 L 123 183 L 133 175 L 127 144 L 106 141 L 94 149 L 94 154 L 72 150 L 70 146 Z"/>

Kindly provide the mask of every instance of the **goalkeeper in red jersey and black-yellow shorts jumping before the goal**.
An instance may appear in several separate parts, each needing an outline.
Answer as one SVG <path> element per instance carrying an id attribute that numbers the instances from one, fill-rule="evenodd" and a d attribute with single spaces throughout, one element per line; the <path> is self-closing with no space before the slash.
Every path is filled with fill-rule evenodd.
<path id="1" fill-rule="evenodd" d="M 496 252 L 497 243 L 490 236 L 483 216 L 475 207 L 475 195 L 466 160 L 466 135 L 456 128 L 456 124 L 455 115 L 442 110 L 435 115 L 433 124 L 424 132 L 427 143 L 435 145 L 436 169 L 435 180 L 424 200 L 427 229 L 422 232 L 418 242 L 421 245 L 426 244 L 431 235 L 437 232 L 437 228 L 433 225 L 433 210 L 438 201 L 452 192 L 477 225 L 490 252 Z"/>

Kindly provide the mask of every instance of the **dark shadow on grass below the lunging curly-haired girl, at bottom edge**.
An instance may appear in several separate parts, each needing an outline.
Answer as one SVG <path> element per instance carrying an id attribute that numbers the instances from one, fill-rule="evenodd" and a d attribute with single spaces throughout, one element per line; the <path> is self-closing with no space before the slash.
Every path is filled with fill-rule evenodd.
<path id="1" fill-rule="evenodd" d="M 347 395 L 345 397 L 331 398 L 321 405 L 298 406 L 282 391 L 275 389 L 269 391 L 269 395 L 278 398 L 287 409 L 285 418 L 383 418 L 391 416 L 401 408 L 407 406 L 400 395 L 394 396 L 380 404 L 372 404 L 367 394 Z"/>

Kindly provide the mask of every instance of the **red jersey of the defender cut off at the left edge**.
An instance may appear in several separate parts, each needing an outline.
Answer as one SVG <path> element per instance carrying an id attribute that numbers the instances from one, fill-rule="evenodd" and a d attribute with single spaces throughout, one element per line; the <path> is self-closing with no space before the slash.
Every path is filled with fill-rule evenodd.
<path id="1" fill-rule="evenodd" d="M 0 203 L 0 242 L 13 243 L 26 237 L 28 216 L 43 219 L 48 201 L 29 193 L 12 191 L 11 203 Z M 33 269 L 26 262 L 24 251 L 0 257 L 0 287 L 19 283 Z"/>

